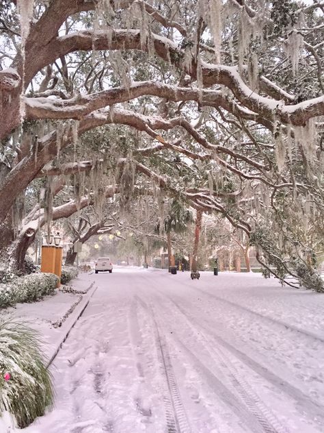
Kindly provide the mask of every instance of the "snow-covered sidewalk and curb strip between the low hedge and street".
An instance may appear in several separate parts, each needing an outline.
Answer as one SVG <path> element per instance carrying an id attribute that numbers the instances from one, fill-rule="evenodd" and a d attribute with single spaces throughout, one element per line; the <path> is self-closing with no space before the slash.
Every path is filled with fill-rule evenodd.
<path id="1" fill-rule="evenodd" d="M 72 289 L 73 293 L 64 292 L 66 289 Z M 51 362 L 95 290 L 93 273 L 80 273 L 77 278 L 61 286 L 56 295 L 0 310 L 0 318 L 24 322 L 38 331 L 44 354 Z"/>

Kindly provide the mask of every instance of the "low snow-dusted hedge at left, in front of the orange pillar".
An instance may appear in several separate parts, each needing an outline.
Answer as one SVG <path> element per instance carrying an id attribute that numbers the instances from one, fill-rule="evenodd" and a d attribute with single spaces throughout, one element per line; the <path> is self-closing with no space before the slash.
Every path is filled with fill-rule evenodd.
<path id="1" fill-rule="evenodd" d="M 45 295 L 53 295 L 58 277 L 53 273 L 32 273 L 0 284 L 0 308 L 14 306 L 18 302 L 33 302 Z"/>

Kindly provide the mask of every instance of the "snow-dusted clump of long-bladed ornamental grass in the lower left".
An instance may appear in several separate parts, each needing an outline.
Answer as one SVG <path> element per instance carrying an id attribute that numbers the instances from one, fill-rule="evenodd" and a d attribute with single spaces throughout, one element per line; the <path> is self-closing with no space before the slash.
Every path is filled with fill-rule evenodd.
<path id="1" fill-rule="evenodd" d="M 38 335 L 20 323 L 0 322 L 0 417 L 8 411 L 25 428 L 52 403 L 51 374 Z"/>

